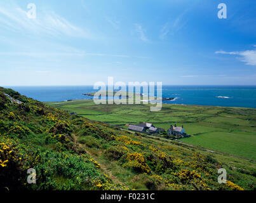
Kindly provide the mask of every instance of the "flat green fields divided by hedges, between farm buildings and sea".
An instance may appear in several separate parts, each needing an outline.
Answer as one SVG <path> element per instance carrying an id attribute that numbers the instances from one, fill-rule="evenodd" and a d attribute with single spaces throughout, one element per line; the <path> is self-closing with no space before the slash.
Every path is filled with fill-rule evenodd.
<path id="1" fill-rule="evenodd" d="M 121 125 L 152 122 L 168 129 L 184 125 L 190 138 L 180 141 L 256 160 L 256 109 L 163 104 L 159 112 L 149 105 L 95 105 L 92 100 L 47 103 L 88 119 Z"/>

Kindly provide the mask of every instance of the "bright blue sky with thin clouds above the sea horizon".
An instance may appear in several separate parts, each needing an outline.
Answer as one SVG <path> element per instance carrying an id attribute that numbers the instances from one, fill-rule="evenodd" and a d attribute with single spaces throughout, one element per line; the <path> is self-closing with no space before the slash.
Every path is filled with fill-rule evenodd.
<path id="1" fill-rule="evenodd" d="M 27 4 L 36 18 L 27 17 Z M 219 3 L 227 19 L 219 19 Z M 0 86 L 256 84 L 256 1 L 0 2 Z"/>

